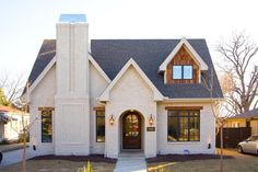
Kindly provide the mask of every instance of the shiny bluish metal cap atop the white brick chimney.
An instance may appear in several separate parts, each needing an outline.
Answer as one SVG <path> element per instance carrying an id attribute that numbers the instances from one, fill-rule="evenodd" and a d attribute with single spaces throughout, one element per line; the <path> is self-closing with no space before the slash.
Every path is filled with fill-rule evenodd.
<path id="1" fill-rule="evenodd" d="M 61 14 L 59 18 L 59 23 L 85 23 L 85 14 Z"/>

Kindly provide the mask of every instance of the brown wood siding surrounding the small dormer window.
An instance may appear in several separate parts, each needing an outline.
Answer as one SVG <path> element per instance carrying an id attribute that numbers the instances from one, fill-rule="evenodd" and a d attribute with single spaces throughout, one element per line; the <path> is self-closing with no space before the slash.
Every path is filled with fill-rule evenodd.
<path id="1" fill-rule="evenodd" d="M 191 66 L 192 79 L 173 79 L 173 66 Z M 166 83 L 199 83 L 200 68 L 188 48 L 183 45 L 166 67 Z"/>

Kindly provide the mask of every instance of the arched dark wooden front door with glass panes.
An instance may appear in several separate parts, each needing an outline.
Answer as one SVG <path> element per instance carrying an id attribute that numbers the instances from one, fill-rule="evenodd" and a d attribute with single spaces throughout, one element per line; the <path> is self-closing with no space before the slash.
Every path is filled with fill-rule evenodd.
<path id="1" fill-rule="evenodd" d="M 128 113 L 122 117 L 122 149 L 141 149 L 141 117 Z"/>

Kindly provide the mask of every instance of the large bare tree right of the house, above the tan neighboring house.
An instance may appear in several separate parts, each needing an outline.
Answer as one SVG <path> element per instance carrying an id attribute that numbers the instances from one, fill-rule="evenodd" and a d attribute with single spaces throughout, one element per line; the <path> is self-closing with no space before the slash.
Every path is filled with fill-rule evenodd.
<path id="1" fill-rule="evenodd" d="M 258 47 L 245 34 L 234 34 L 228 42 L 222 42 L 216 50 L 222 55 L 220 68 L 227 80 L 224 96 L 235 114 L 247 112 L 258 106 L 258 62 L 255 60 Z M 228 108 L 228 110 L 230 110 Z"/>

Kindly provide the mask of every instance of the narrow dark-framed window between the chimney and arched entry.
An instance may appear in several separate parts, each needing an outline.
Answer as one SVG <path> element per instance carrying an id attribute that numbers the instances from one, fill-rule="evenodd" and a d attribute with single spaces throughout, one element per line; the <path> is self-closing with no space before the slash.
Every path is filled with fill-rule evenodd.
<path id="1" fill-rule="evenodd" d="M 105 142 L 105 111 L 96 111 L 96 142 Z"/>

